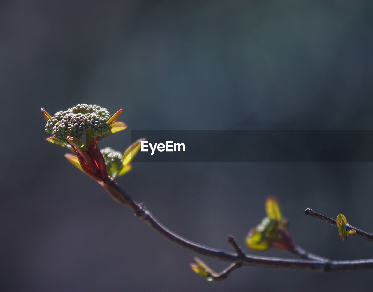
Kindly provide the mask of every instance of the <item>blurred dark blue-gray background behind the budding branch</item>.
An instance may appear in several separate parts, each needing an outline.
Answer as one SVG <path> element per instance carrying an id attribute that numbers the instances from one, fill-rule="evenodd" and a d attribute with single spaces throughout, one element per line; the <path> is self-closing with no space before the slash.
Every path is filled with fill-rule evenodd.
<path id="1" fill-rule="evenodd" d="M 45 142 L 40 107 L 123 108 L 129 130 L 372 129 L 372 13 L 371 1 L 1 1 L 0 290 L 369 291 L 372 270 L 243 267 L 207 282 L 195 254 Z M 101 146 L 124 150 L 129 130 Z M 304 216 L 341 212 L 373 231 L 372 164 L 133 166 L 119 184 L 193 241 L 243 246 L 272 194 L 306 250 L 373 257 L 372 243 Z"/>

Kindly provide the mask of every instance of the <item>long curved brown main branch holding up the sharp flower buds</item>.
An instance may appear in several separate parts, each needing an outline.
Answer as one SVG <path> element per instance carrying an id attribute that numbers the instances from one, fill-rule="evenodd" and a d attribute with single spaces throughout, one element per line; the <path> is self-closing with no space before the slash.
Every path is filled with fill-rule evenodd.
<path id="1" fill-rule="evenodd" d="M 112 178 L 110 178 L 107 185 L 103 186 L 105 190 L 110 194 L 110 196 L 115 197 L 116 200 L 120 203 L 129 206 L 138 218 L 144 220 L 144 222 L 151 226 L 155 231 L 159 232 L 161 235 L 174 242 L 175 244 L 178 244 L 179 246 L 198 254 L 233 263 L 226 270 L 220 273 L 222 275 L 225 275 L 225 277 L 239 267 L 237 263 L 241 263 L 242 266 L 300 269 L 319 272 L 373 269 L 373 259 L 333 261 L 326 258 L 324 259 L 318 257 L 316 255 L 308 254 L 301 248 L 295 248 L 293 253 L 300 257 L 307 258 L 307 260 L 247 255 L 244 254 L 241 249 L 239 249 L 238 245 L 237 247 L 235 247 L 236 244 L 233 243 L 233 240 L 231 244 L 233 245 L 233 247 L 235 247 L 237 253 L 228 253 L 222 250 L 217 250 L 215 248 L 197 244 L 175 234 L 174 232 L 163 226 L 161 223 L 159 223 L 157 219 L 154 218 L 154 216 L 144 207 L 143 204 L 139 204 L 134 201 L 125 191 L 123 191 L 119 187 L 119 185 L 117 185 L 117 183 Z"/>

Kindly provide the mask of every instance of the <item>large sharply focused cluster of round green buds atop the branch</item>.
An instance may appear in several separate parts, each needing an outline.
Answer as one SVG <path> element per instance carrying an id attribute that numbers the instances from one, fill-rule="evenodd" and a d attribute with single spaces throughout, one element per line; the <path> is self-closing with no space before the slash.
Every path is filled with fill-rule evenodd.
<path id="1" fill-rule="evenodd" d="M 81 139 L 82 135 L 101 136 L 110 131 L 109 111 L 99 105 L 77 104 L 67 111 L 59 111 L 47 121 L 45 131 L 60 142 L 67 136 Z"/>

